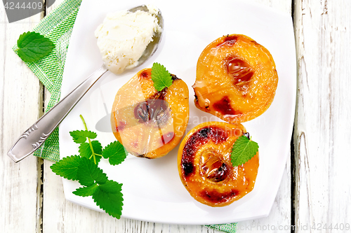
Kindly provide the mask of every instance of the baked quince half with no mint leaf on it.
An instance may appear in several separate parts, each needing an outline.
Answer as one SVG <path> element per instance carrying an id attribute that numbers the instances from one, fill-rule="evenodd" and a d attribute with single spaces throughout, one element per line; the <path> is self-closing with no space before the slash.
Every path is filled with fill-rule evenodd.
<path id="1" fill-rule="evenodd" d="M 210 43 L 197 62 L 195 105 L 230 123 L 246 122 L 270 107 L 278 85 L 270 52 L 249 36 Z"/>

